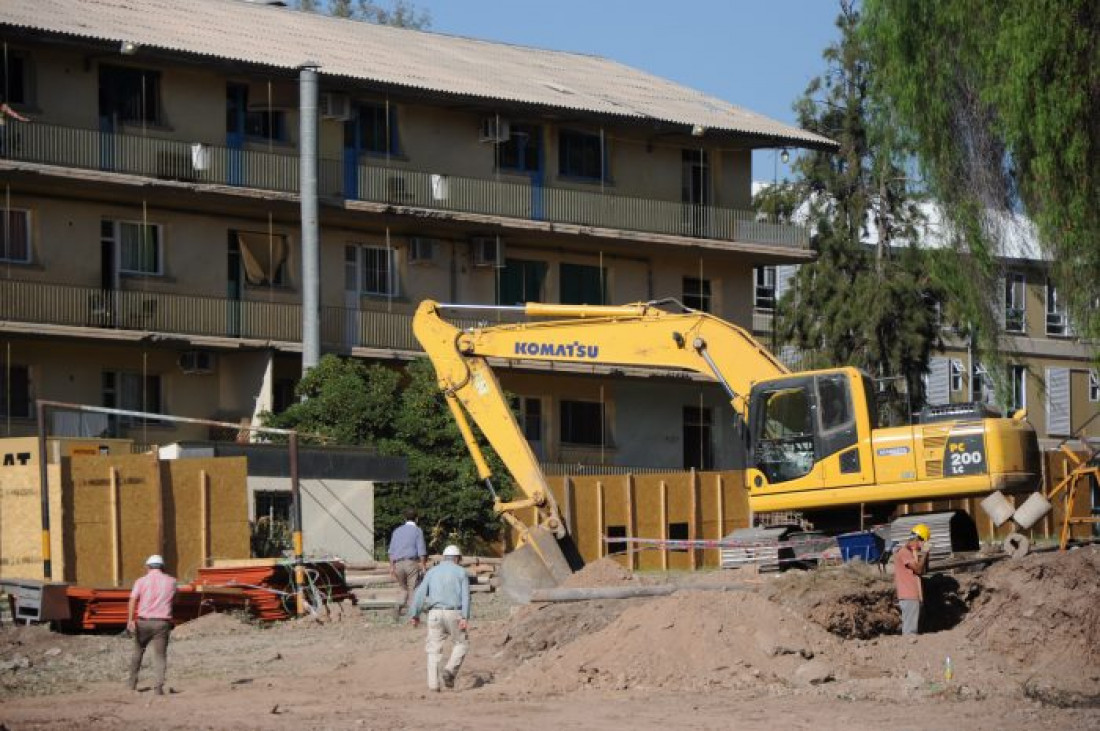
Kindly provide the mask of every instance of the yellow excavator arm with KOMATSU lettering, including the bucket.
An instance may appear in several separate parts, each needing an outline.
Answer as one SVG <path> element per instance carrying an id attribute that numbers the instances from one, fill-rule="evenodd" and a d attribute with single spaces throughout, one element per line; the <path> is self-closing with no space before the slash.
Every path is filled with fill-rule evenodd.
<path id="1" fill-rule="evenodd" d="M 640 366 L 705 374 L 726 388 L 740 419 L 756 380 L 784 375 L 788 369 L 748 332 L 705 312 L 669 312 L 659 303 L 572 306 L 528 303 L 519 308 L 421 302 L 413 332 L 436 368 L 480 477 L 492 491 L 495 509 L 519 535 L 519 545 L 506 558 L 505 584 L 514 596 L 556 585 L 571 573 L 557 544 L 565 539 L 553 495 L 488 358 Z M 519 311 L 528 318 L 553 318 L 483 328 L 460 329 L 441 310 Z M 522 497 L 502 501 L 492 474 L 473 435 L 470 421 L 493 445 Z M 531 525 L 515 512 L 534 509 Z M 509 572 L 509 564 L 516 571 Z"/>

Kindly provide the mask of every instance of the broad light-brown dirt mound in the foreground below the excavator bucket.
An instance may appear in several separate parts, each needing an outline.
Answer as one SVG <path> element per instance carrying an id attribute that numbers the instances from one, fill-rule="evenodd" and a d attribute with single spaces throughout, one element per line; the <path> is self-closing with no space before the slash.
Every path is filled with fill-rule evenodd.
<path id="1" fill-rule="evenodd" d="M 827 658 L 837 640 L 757 594 L 685 590 L 619 603 L 627 606 L 605 627 L 571 632 L 571 642 L 507 683 L 562 691 L 752 688 L 796 683 L 811 658 L 815 673 L 832 675 Z"/>

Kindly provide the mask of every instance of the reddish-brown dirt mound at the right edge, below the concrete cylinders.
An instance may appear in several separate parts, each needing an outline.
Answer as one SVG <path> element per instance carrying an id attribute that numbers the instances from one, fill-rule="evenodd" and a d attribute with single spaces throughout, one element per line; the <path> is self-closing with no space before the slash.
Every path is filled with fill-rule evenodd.
<path id="1" fill-rule="evenodd" d="M 1077 702 L 1100 701 L 1100 546 L 1003 561 L 981 577 L 981 591 L 959 625 L 974 642 L 1035 668 L 1028 690 L 1057 685 Z M 1068 695 L 1066 695 L 1068 694 Z"/>

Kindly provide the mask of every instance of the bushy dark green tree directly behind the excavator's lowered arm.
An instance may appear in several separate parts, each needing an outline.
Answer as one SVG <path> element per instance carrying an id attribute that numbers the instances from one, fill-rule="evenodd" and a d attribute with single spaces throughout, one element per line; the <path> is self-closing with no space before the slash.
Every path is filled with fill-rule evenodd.
<path id="1" fill-rule="evenodd" d="M 297 429 L 304 443 L 319 434 L 328 443 L 370 446 L 382 455 L 405 457 L 409 478 L 375 489 L 375 534 L 383 539 L 399 525 L 407 508 L 416 508 L 429 543 L 441 549 L 457 542 L 484 547 L 499 536 L 501 523 L 488 491 L 477 479 L 470 453 L 431 364 L 421 359 L 404 372 L 378 364 L 326 355 L 298 384 L 302 398 L 279 414 L 265 414 L 270 427 Z M 504 497 L 512 481 L 495 454 L 482 450 Z"/>

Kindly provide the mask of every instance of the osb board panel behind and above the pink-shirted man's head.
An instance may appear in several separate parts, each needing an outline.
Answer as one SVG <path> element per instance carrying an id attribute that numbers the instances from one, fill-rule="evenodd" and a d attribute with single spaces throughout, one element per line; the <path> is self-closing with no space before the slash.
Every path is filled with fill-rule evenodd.
<path id="1" fill-rule="evenodd" d="M 154 454 L 66 459 L 66 580 L 82 586 L 129 585 L 145 573 L 145 558 L 163 550 L 160 468 Z M 111 469 L 118 473 L 117 500 Z M 66 505 L 67 507 L 67 505 Z M 69 527 L 66 520 L 67 528 Z M 121 573 L 116 582 L 114 562 Z"/>

